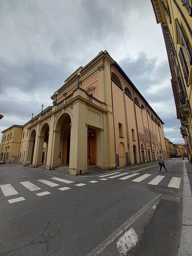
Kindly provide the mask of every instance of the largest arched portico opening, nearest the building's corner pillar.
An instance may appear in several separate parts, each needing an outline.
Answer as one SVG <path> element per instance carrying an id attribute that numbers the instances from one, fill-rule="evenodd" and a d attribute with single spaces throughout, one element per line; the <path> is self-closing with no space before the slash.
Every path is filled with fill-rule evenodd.
<path id="1" fill-rule="evenodd" d="M 53 168 L 69 166 L 70 161 L 70 123 L 69 114 L 62 114 L 57 120 L 53 137 Z"/>

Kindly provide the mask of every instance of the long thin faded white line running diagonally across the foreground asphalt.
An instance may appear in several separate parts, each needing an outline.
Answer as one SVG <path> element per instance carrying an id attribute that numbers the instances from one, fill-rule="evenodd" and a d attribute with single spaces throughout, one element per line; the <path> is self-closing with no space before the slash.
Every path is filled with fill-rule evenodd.
<path id="1" fill-rule="evenodd" d="M 114 231 L 114 233 L 112 233 L 109 237 L 106 238 L 106 240 L 100 243 L 100 245 L 95 247 L 95 249 L 93 249 L 93 251 L 87 254 L 87 256 L 95 256 L 101 253 L 108 245 L 110 245 L 110 243 L 112 243 L 126 229 L 128 229 L 133 224 L 133 222 L 135 222 L 137 218 L 139 218 L 145 212 L 145 210 L 147 210 L 149 207 L 151 207 L 151 205 L 156 203 L 156 201 L 160 199 L 161 196 L 162 194 L 159 194 L 154 199 L 152 199 L 149 203 L 147 203 L 143 208 L 138 210 L 138 212 L 136 212 L 131 218 L 129 218 L 126 222 L 124 222 L 118 229 Z"/>

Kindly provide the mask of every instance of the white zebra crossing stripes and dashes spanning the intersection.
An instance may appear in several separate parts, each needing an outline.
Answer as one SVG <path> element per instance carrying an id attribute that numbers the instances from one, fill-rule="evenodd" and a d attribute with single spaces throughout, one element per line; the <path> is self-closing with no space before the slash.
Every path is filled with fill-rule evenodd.
<path id="1" fill-rule="evenodd" d="M 103 182 L 106 180 L 113 180 L 113 179 L 117 179 L 121 182 L 130 180 L 134 183 L 140 183 L 142 181 L 147 180 L 147 184 L 149 184 L 149 185 L 158 185 L 165 178 L 165 175 L 156 175 L 154 177 L 154 174 L 153 175 L 152 174 L 141 174 L 140 172 L 135 172 L 135 173 L 112 172 L 110 174 L 100 175 L 97 177 L 98 177 L 98 180 L 89 180 L 89 181 L 87 181 L 87 183 L 73 184 L 73 183 L 76 183 L 76 181 L 61 179 L 60 177 L 50 177 L 49 179 L 51 179 L 51 180 L 37 179 L 35 181 L 35 183 L 37 182 L 37 184 L 31 183 L 30 181 L 20 181 L 20 185 L 27 188 L 27 191 L 30 191 L 30 192 L 34 192 L 34 191 L 37 192 L 39 190 L 42 190 L 42 192 L 35 193 L 36 196 L 41 197 L 41 196 L 49 195 L 49 194 L 51 194 L 51 192 L 47 191 L 47 189 L 41 188 L 40 184 L 43 184 L 43 186 L 45 186 L 45 187 L 51 187 L 51 188 L 60 187 L 60 188 L 57 188 L 60 191 L 67 191 L 67 190 L 73 188 L 73 187 L 62 187 L 63 183 L 72 184 L 72 186 L 74 185 L 76 187 L 84 187 L 87 184 L 95 184 L 95 183 Z M 153 177 L 153 179 L 151 179 L 152 177 Z M 149 181 L 149 178 L 151 179 L 150 181 Z M 179 189 L 180 184 L 181 184 L 181 177 L 172 177 L 172 178 L 170 178 L 169 184 L 167 185 L 167 187 Z M 0 185 L 0 188 L 1 188 L 0 196 L 1 196 L 1 191 L 5 197 L 15 196 L 15 195 L 19 194 L 18 191 L 16 191 L 16 189 L 14 187 L 12 187 L 11 184 L 2 184 L 2 185 Z M 43 191 L 43 190 L 45 190 L 45 191 Z M 7 201 L 10 204 L 12 204 L 12 203 L 18 203 L 19 201 L 24 201 L 24 200 L 26 200 L 26 199 L 24 199 L 24 197 L 16 197 L 13 199 L 9 199 Z"/>

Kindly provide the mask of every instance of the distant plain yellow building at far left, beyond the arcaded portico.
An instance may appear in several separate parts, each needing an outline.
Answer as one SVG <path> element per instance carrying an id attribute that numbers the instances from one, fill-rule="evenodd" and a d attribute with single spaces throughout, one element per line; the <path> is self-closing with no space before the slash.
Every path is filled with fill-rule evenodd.
<path id="1" fill-rule="evenodd" d="M 6 163 L 16 163 L 19 160 L 22 130 L 22 125 L 12 125 L 8 129 L 2 131 L 0 159 L 5 160 Z"/>

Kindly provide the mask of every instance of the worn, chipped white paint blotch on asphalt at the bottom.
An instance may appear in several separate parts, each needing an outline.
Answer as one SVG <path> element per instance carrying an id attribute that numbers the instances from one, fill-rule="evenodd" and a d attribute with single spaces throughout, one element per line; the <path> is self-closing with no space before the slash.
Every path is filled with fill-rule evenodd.
<path id="1" fill-rule="evenodd" d="M 137 242 L 138 236 L 133 228 L 125 232 L 116 242 L 120 255 L 128 255 Z"/>

